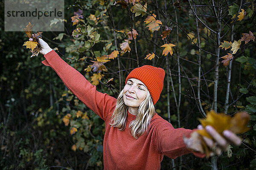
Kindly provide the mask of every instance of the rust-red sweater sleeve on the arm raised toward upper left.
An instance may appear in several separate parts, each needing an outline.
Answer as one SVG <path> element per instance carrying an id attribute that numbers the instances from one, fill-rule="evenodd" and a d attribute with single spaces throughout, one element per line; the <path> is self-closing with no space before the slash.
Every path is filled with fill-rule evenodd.
<path id="1" fill-rule="evenodd" d="M 106 121 L 106 119 L 110 118 L 110 112 L 116 106 L 115 98 L 96 91 L 95 85 L 92 85 L 79 71 L 68 65 L 54 50 L 45 54 L 44 57 L 46 60 L 42 61 L 42 63 L 56 71 L 67 88 L 81 102 L 98 114 L 103 120 Z"/>

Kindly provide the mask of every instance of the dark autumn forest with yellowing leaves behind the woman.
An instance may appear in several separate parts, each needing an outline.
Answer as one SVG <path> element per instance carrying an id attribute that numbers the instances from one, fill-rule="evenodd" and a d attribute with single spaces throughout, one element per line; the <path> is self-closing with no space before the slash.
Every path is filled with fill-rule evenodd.
<path id="1" fill-rule="evenodd" d="M 256 169 L 254 0 L 65 0 L 64 32 L 44 32 L 51 48 L 97 90 L 117 97 L 128 73 L 166 71 L 157 113 L 195 128 L 207 111 L 250 114 L 240 147 L 221 156 L 175 160 L 161 169 Z M 30 58 L 24 32 L 4 31 L 0 3 L 0 169 L 103 169 L 105 124 L 65 87 L 44 57 Z M 32 23 L 33 24 L 33 23 Z M 36 23 L 35 23 L 36 24 Z M 25 26 L 24 26 L 25 28 Z M 111 79 L 113 78 L 113 79 Z"/>

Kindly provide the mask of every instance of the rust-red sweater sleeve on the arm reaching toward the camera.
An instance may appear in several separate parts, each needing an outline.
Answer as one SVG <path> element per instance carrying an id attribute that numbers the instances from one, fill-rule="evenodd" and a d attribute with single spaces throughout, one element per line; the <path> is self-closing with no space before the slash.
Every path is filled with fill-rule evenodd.
<path id="1" fill-rule="evenodd" d="M 177 128 L 175 129 L 169 122 L 160 123 L 156 130 L 157 148 L 164 155 L 175 159 L 187 153 L 203 158 L 205 155 L 187 149 L 183 142 L 183 136 L 189 137 L 194 130 Z"/>

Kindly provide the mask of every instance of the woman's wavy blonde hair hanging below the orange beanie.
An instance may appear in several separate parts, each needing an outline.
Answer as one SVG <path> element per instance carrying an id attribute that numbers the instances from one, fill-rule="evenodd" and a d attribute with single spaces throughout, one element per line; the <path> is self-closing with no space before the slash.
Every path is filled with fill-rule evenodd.
<path id="1" fill-rule="evenodd" d="M 127 121 L 127 111 L 128 106 L 125 105 L 123 99 L 123 90 L 120 92 L 116 101 L 116 108 L 111 116 L 110 125 L 117 127 L 119 130 L 125 130 Z M 140 104 L 136 119 L 131 121 L 129 124 L 129 130 L 131 130 L 131 135 L 138 139 L 142 136 L 145 131 L 148 131 L 148 126 L 150 126 L 150 121 L 155 114 L 154 104 L 151 95 L 148 91 L 145 100 Z"/>

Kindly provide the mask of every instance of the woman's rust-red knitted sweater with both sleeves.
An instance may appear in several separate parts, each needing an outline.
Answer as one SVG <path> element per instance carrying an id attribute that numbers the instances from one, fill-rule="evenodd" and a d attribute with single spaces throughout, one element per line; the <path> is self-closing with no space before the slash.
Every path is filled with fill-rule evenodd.
<path id="1" fill-rule="evenodd" d="M 193 130 L 175 129 L 157 113 L 151 119 L 148 132 L 138 139 L 129 133 L 129 123 L 136 115 L 127 113 L 123 131 L 111 127 L 110 119 L 116 107 L 116 99 L 96 91 L 96 86 L 91 85 L 79 71 L 64 62 L 55 51 L 50 51 L 44 57 L 46 60 L 42 63 L 55 70 L 67 88 L 105 121 L 104 170 L 160 170 L 163 155 L 175 159 L 191 153 L 186 149 L 183 136 L 189 137 Z M 201 153 L 194 154 L 204 157 Z"/>

